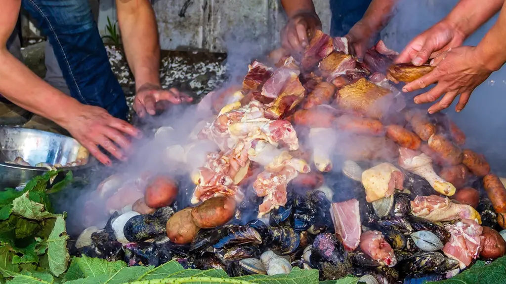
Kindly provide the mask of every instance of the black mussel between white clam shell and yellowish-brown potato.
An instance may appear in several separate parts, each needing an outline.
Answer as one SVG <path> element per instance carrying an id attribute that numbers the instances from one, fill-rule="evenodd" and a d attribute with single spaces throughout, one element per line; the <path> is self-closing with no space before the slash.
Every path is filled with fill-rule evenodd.
<path id="1" fill-rule="evenodd" d="M 137 215 L 126 221 L 123 233 L 129 242 L 142 242 L 166 232 L 167 221 L 154 215 Z"/>

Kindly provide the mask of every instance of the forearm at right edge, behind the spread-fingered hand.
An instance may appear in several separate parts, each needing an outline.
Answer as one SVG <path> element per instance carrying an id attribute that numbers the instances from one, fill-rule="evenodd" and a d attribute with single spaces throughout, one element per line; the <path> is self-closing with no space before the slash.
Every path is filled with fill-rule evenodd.
<path id="1" fill-rule="evenodd" d="M 506 4 L 503 3 L 497 22 L 476 46 L 478 61 L 490 71 L 499 70 L 506 62 Z"/>

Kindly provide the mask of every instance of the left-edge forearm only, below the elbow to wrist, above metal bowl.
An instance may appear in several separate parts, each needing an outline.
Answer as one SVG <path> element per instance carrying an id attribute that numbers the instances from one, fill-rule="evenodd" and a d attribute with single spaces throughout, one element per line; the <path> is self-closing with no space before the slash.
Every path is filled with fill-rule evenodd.
<path id="1" fill-rule="evenodd" d="M 14 104 L 64 125 L 80 103 L 53 88 L 11 55 L 0 50 L 0 93 Z"/>

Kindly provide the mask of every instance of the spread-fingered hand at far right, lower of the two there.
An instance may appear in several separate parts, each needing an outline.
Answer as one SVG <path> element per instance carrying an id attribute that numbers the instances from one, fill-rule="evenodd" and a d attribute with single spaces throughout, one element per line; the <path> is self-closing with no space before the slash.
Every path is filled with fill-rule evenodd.
<path id="1" fill-rule="evenodd" d="M 405 85 L 402 90 L 414 91 L 438 82 L 428 92 L 416 96 L 414 102 L 434 102 L 444 94 L 439 102 L 429 108 L 428 111 L 432 114 L 448 108 L 460 94 L 455 106 L 455 111 L 460 112 L 468 103 L 473 90 L 493 72 L 485 66 L 475 50 L 474 46 L 461 46 L 438 55 L 431 61 L 431 66 L 436 66 L 433 71 Z"/>

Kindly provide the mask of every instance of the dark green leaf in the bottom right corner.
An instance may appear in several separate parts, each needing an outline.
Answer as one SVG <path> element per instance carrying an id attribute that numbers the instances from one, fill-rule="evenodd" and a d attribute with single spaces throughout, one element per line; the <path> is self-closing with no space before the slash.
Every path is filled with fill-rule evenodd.
<path id="1" fill-rule="evenodd" d="M 466 271 L 453 276 L 450 279 L 427 282 L 427 284 L 502 284 L 506 283 L 506 256 L 496 259 L 485 265 L 484 261 L 478 261 Z"/>

